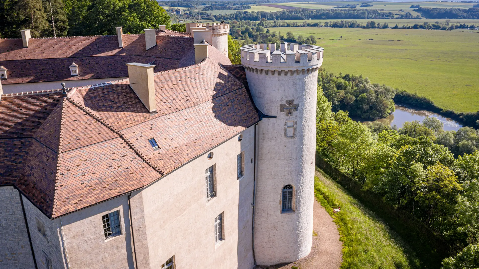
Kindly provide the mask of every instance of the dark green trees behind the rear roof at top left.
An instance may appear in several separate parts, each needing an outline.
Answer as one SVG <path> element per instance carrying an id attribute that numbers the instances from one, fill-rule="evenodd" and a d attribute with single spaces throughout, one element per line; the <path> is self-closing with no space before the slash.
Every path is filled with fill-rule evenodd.
<path id="1" fill-rule="evenodd" d="M 32 37 L 142 33 L 170 27 L 170 16 L 154 0 L 5 0 L 0 4 L 0 37 Z"/>

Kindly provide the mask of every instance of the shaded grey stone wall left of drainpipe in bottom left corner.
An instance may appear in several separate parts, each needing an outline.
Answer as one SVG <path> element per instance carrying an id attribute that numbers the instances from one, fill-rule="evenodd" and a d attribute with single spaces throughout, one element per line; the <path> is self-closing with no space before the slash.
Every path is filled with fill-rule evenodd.
<path id="1" fill-rule="evenodd" d="M 12 186 L 0 187 L 0 268 L 35 268 L 20 195 Z"/>

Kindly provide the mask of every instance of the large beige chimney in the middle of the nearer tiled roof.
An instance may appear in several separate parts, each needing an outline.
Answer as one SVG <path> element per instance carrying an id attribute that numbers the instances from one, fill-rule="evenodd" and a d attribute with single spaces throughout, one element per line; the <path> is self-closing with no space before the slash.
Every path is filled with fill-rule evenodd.
<path id="1" fill-rule="evenodd" d="M 155 80 L 153 78 L 153 67 L 155 66 L 139 63 L 126 65 L 128 66 L 130 88 L 137 94 L 150 114 L 156 112 Z"/>

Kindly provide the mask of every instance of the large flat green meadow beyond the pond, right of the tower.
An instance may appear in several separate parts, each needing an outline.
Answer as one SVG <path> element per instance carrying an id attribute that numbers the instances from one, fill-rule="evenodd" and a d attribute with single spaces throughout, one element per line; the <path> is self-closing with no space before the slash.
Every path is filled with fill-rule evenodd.
<path id="1" fill-rule="evenodd" d="M 479 30 L 278 27 L 270 31 L 321 38 L 317 45 L 325 48 L 323 67 L 334 74 L 363 74 L 373 83 L 417 92 L 444 109 L 479 109 Z"/>

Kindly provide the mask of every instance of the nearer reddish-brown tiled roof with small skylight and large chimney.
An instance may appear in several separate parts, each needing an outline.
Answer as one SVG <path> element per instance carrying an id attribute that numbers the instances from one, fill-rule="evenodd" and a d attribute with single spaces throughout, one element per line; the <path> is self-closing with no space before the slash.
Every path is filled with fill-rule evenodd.
<path id="1" fill-rule="evenodd" d="M 2 96 L 0 185 L 55 218 L 144 187 L 243 131 L 258 113 L 221 56 L 156 73 L 152 115 L 128 80 L 68 97 Z"/>

